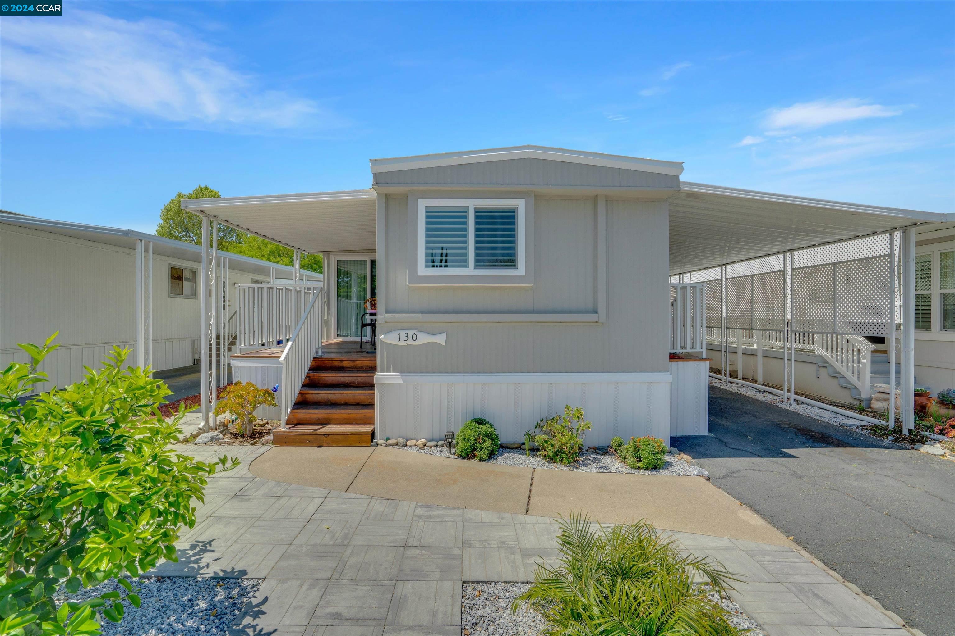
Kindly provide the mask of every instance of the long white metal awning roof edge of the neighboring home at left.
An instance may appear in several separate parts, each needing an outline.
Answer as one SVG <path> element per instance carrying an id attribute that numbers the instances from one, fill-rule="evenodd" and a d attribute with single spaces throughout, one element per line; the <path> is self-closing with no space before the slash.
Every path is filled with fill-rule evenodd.
<path id="1" fill-rule="evenodd" d="M 60 236 L 72 236 L 73 238 L 82 238 L 83 240 L 94 241 L 104 245 L 113 245 L 129 250 L 136 249 L 138 239 L 151 241 L 153 243 L 153 254 L 156 256 L 166 256 L 183 262 L 199 263 L 201 260 L 202 248 L 193 243 L 184 243 L 173 238 L 164 236 L 154 236 L 136 230 L 126 230 L 124 228 L 111 228 L 103 225 L 89 225 L 87 223 L 74 223 L 72 221 L 60 221 L 52 218 L 38 218 L 36 216 L 18 215 L 15 213 L 0 211 L 0 225 L 13 225 L 31 230 L 41 230 Z M 292 277 L 293 270 L 286 265 L 270 263 L 259 258 L 249 256 L 240 256 L 221 252 L 223 256 L 229 257 L 229 269 L 235 272 L 242 272 L 250 276 L 267 278 L 274 268 L 276 273 L 286 274 L 288 278 Z M 310 278 L 321 278 L 321 274 L 302 271 L 303 275 Z"/>

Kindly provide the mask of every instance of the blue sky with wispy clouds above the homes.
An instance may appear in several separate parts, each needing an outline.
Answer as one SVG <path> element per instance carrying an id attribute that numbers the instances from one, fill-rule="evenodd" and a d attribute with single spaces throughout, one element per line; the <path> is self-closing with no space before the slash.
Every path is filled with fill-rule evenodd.
<path id="1" fill-rule="evenodd" d="M 177 191 L 368 187 L 525 143 L 955 211 L 955 3 L 77 2 L 0 18 L 0 208 L 152 231 Z"/>

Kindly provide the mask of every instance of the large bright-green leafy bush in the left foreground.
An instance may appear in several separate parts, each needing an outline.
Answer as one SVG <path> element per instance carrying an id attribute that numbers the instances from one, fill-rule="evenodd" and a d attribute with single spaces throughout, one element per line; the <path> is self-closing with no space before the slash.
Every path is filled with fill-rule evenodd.
<path id="1" fill-rule="evenodd" d="M 0 634 L 98 634 L 100 614 L 118 622 L 124 602 L 138 606 L 130 583 L 160 559 L 176 560 L 180 525 L 196 523 L 218 464 L 168 448 L 185 410 L 164 421 L 156 403 L 170 394 L 138 368 L 122 370 L 115 348 L 101 371 L 21 405 L 56 347 L 21 344 L 31 364 L 0 376 Z M 223 457 L 219 464 L 223 466 Z M 124 593 L 84 603 L 53 593 L 117 579 Z"/>

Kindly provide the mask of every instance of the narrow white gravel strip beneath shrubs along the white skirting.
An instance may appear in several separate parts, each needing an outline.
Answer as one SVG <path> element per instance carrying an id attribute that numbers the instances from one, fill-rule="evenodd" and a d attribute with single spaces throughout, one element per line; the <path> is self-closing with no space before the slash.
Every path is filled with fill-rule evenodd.
<path id="1" fill-rule="evenodd" d="M 433 448 L 418 448 L 417 446 L 385 446 L 385 448 L 397 448 L 414 453 L 427 453 L 428 455 L 437 455 L 440 457 L 451 457 L 458 459 L 456 455 L 449 454 L 447 448 L 435 446 Z M 584 451 L 581 453 L 577 462 L 565 466 L 560 463 L 547 462 L 534 451 L 531 456 L 514 448 L 500 448 L 487 463 L 502 463 L 507 466 L 527 466 L 528 468 L 547 468 L 551 470 L 577 470 L 584 473 L 634 473 L 640 475 L 684 475 L 690 477 L 707 477 L 710 473 L 694 466 L 690 462 L 676 459 L 675 455 L 667 454 L 666 463 L 663 468 L 657 470 L 640 470 L 629 468 L 624 462 L 620 462 L 617 457 L 603 450 Z"/>

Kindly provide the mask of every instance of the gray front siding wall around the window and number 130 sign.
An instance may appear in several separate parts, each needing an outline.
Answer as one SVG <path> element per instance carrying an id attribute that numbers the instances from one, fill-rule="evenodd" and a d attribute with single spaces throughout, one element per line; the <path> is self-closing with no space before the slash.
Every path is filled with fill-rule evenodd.
<path id="1" fill-rule="evenodd" d="M 436 194 L 435 194 L 436 195 Z M 439 196 L 439 195 L 437 195 Z M 378 348 L 379 373 L 667 372 L 666 201 L 607 200 L 599 255 L 596 197 L 536 197 L 531 289 L 408 287 L 407 198 L 387 197 L 384 313 L 598 312 L 598 258 L 606 258 L 603 323 L 379 323 L 378 333 L 447 332 L 447 344 Z M 379 257 L 381 255 L 379 254 Z M 542 320 L 544 318 L 541 318 Z"/>

